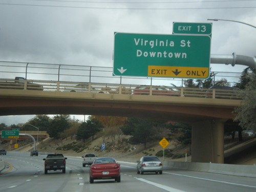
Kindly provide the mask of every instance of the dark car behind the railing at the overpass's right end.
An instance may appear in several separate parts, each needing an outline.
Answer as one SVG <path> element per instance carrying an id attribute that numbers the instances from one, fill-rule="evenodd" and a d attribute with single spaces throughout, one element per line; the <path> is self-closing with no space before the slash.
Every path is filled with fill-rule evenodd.
<path id="1" fill-rule="evenodd" d="M 217 99 L 241 99 L 239 97 L 239 88 L 227 87 L 227 86 L 211 86 L 206 91 L 206 98 L 212 98 L 212 90 L 215 89 L 215 98 Z"/>

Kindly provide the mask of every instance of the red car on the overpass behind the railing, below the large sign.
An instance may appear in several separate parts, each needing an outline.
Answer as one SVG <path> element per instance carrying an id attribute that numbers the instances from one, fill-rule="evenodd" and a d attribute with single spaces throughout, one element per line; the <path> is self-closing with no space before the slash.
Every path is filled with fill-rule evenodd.
<path id="1" fill-rule="evenodd" d="M 149 95 L 150 94 L 150 86 L 139 86 L 133 90 L 134 95 Z M 171 88 L 153 86 L 152 87 L 152 95 L 159 96 L 180 96 L 178 91 L 174 91 Z"/>

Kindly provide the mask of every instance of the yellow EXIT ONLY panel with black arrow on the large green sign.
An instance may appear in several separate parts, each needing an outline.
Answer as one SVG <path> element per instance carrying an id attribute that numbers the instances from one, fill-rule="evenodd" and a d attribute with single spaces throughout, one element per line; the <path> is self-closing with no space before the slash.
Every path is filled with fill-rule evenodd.
<path id="1" fill-rule="evenodd" d="M 148 66 L 148 76 L 177 77 L 177 78 L 201 78 L 209 76 L 209 68 L 205 67 L 175 67 L 175 66 Z"/>

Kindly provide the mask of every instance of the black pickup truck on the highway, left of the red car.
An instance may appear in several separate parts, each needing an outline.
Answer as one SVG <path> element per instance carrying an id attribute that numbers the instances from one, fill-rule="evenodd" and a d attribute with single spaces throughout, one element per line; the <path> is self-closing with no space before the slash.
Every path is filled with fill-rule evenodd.
<path id="1" fill-rule="evenodd" d="M 62 173 L 66 173 L 66 159 L 62 154 L 49 154 L 45 161 L 45 174 L 48 174 L 48 170 L 62 170 Z"/>

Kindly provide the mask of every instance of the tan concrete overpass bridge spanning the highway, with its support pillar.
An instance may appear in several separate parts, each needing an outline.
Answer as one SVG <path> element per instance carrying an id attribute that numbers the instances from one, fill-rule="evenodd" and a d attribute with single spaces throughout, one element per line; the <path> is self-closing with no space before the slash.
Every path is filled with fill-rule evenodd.
<path id="1" fill-rule="evenodd" d="M 192 125 L 192 161 L 224 163 L 224 124 L 241 99 L 225 91 L 123 84 L 33 81 L 44 91 L 2 89 L 0 115 L 80 114 L 147 117 Z M 141 87 L 143 92 L 140 92 Z M 104 93 L 102 93 L 104 92 Z M 210 98 L 206 98 L 210 97 Z M 218 97 L 218 98 L 216 98 Z"/>

